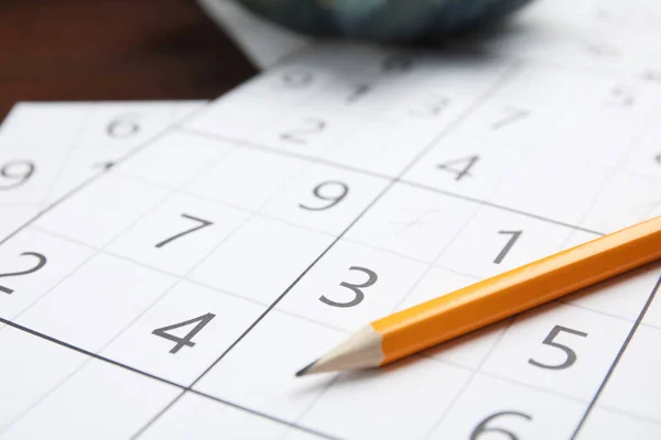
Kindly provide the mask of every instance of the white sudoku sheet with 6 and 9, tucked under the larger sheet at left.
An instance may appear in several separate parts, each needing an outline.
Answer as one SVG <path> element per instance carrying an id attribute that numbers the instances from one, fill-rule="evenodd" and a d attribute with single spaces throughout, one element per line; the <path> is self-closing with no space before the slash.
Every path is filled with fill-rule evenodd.
<path id="1" fill-rule="evenodd" d="M 203 103 L 15 105 L 0 128 L 0 237 Z"/>

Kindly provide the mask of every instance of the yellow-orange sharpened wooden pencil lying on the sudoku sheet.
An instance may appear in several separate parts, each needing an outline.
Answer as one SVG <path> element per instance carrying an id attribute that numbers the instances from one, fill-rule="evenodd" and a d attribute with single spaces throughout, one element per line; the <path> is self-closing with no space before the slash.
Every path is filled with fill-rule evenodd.
<path id="1" fill-rule="evenodd" d="M 661 217 L 373 321 L 296 373 L 369 369 L 661 258 Z"/>

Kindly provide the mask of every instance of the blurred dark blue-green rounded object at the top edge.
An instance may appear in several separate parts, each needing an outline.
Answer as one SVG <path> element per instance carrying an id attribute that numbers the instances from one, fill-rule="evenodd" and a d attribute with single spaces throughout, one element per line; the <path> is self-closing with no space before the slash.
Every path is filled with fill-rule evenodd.
<path id="1" fill-rule="evenodd" d="M 256 13 L 316 36 L 379 42 L 436 40 L 498 21 L 531 0 L 239 0 Z"/>

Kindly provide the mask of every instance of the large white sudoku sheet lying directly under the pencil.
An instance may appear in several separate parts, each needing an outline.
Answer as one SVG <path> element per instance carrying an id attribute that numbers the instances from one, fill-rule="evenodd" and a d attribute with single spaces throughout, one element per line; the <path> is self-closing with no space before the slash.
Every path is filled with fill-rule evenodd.
<path id="1" fill-rule="evenodd" d="M 384 371 L 293 373 L 661 215 L 660 110 L 627 75 L 316 46 L 2 242 L 0 438 L 658 438 L 658 265 Z"/>

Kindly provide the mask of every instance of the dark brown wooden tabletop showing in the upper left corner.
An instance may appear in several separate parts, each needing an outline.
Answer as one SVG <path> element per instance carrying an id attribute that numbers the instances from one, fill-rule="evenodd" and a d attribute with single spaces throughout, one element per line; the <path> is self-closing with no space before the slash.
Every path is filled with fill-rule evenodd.
<path id="1" fill-rule="evenodd" d="M 254 73 L 194 0 L 0 0 L 0 121 L 21 100 L 214 98 Z"/>

